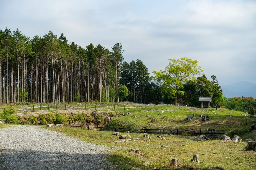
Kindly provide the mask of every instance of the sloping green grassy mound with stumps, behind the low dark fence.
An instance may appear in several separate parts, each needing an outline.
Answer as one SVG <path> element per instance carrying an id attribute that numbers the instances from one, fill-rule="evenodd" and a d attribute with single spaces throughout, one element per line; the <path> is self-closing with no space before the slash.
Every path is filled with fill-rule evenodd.
<path id="1" fill-rule="evenodd" d="M 164 109 L 164 113 L 158 115 L 160 111 L 156 109 Z M 250 125 L 256 123 L 255 118 L 250 118 L 249 115 L 244 116 L 244 112 L 225 110 L 225 112 L 217 111 L 216 109 L 190 109 L 188 107 L 162 106 L 157 108 L 146 108 L 145 110 L 132 112 L 132 114 L 114 117 L 111 121 L 111 127 L 127 127 L 127 128 L 158 128 L 158 129 L 225 129 L 228 135 L 243 135 L 249 132 Z M 169 109 L 170 111 L 167 111 Z M 209 111 L 209 112 L 207 112 Z M 172 112 L 172 113 L 171 113 Z M 214 114 L 216 112 L 216 114 Z M 232 112 L 230 114 L 230 112 Z M 187 122 L 186 118 L 192 114 L 196 116 L 191 122 Z M 208 115 L 211 120 L 201 122 L 201 114 Z M 241 116 L 243 114 L 243 116 Z M 166 116 L 166 119 L 163 117 Z M 232 116 L 232 117 L 228 117 Z M 135 118 L 136 117 L 136 118 Z M 151 123 L 152 117 L 157 119 Z M 246 126 L 246 119 L 248 125 Z"/>

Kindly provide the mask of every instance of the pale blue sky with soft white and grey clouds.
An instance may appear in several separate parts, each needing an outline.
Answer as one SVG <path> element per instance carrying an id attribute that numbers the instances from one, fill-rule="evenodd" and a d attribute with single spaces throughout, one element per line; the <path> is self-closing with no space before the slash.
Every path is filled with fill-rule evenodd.
<path id="1" fill-rule="evenodd" d="M 6 27 L 30 37 L 63 33 L 84 48 L 121 43 L 124 60 L 143 60 L 151 75 L 187 57 L 220 85 L 256 83 L 256 1 L 0 0 Z"/>

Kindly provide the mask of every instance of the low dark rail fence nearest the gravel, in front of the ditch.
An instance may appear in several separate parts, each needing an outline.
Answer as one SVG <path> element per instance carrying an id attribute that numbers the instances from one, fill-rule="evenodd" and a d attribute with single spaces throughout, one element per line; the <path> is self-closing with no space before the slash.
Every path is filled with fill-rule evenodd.
<path id="1" fill-rule="evenodd" d="M 11 122 L 11 123 L 22 124 L 22 125 L 39 125 L 39 124 L 17 123 L 17 122 Z M 129 132 L 129 133 L 148 133 L 148 134 L 172 134 L 172 135 L 188 135 L 188 136 L 205 135 L 207 137 L 213 137 L 213 138 L 219 138 L 222 134 L 225 134 L 225 130 L 217 130 L 217 129 L 136 129 L 136 128 L 118 128 L 118 127 L 69 126 L 69 125 L 65 125 L 65 126 L 84 128 L 87 130 L 127 132 L 127 133 Z"/>

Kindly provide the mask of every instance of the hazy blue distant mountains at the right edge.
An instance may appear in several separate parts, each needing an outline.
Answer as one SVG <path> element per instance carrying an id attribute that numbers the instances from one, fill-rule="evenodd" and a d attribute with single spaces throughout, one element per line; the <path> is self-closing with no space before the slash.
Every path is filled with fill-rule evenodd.
<path id="1" fill-rule="evenodd" d="M 227 98 L 249 97 L 256 98 L 256 84 L 247 81 L 235 82 L 227 86 L 222 86 L 223 94 Z"/>

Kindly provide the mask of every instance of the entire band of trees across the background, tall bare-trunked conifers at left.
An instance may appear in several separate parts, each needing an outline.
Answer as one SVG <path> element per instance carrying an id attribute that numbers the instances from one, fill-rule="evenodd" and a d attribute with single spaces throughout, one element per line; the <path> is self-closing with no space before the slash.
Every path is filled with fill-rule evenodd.
<path id="1" fill-rule="evenodd" d="M 100 44 L 83 48 L 63 33 L 30 38 L 18 29 L 0 30 L 0 103 L 175 101 L 200 106 L 199 97 L 211 96 L 212 106 L 255 110 L 253 98 L 225 98 L 217 77 L 208 80 L 197 61 L 170 59 L 164 71 L 150 76 L 142 60 L 127 63 L 123 52 L 120 43 L 111 49 Z"/>

